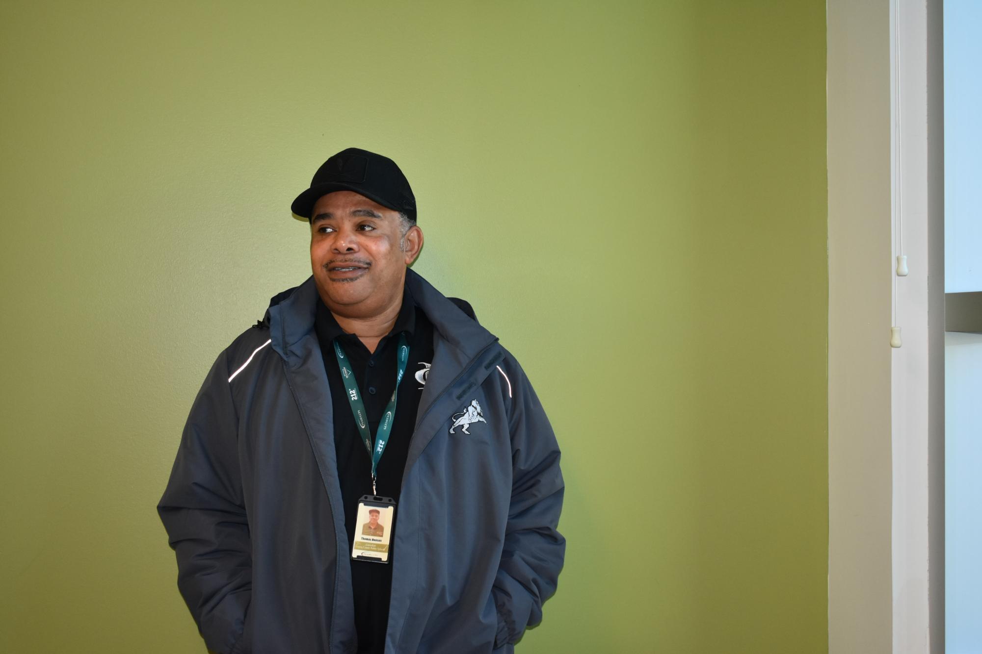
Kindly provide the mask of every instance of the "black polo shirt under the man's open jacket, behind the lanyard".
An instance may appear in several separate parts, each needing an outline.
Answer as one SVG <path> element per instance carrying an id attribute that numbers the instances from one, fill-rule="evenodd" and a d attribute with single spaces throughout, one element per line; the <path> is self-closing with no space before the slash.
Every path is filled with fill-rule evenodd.
<path id="1" fill-rule="evenodd" d="M 374 354 L 338 325 L 323 302 L 317 303 L 314 321 L 317 340 L 324 357 L 324 369 L 331 388 L 334 408 L 334 446 L 338 457 L 338 477 L 341 480 L 341 496 L 345 504 L 345 528 L 348 543 L 355 538 L 357 502 L 362 495 L 372 494 L 371 457 L 355 426 L 348 392 L 338 369 L 333 341 L 339 339 L 349 366 L 361 391 L 361 400 L 368 414 L 368 428 L 375 437 L 379 421 L 389 403 L 396 385 L 397 350 L 399 334 L 406 332 L 409 343 L 409 364 L 406 375 L 399 384 L 396 400 L 396 418 L 393 421 L 389 442 L 376 470 L 379 495 L 396 500 L 396 525 L 392 528 L 390 543 L 395 544 L 395 532 L 399 527 L 399 493 L 403 485 L 403 472 L 409 455 L 409 439 L 416 424 L 419 396 L 423 392 L 426 373 L 433 361 L 433 325 L 416 306 L 409 289 L 403 292 L 403 306 L 396 324 L 388 335 L 379 341 Z M 422 379 L 422 381 L 420 381 Z M 344 553 L 341 553 L 345 556 Z M 347 553 L 351 557 L 351 551 Z M 392 592 L 392 566 L 398 550 L 393 547 L 388 564 L 352 560 L 352 589 L 355 593 L 355 629 L 358 635 L 358 654 L 383 654 L 385 631 L 389 621 L 389 598 Z"/>

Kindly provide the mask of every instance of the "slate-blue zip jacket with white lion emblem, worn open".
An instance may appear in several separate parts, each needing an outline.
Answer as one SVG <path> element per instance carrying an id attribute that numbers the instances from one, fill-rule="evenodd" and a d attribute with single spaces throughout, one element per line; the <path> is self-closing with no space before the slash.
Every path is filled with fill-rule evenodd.
<path id="1" fill-rule="evenodd" d="M 407 284 L 434 356 L 397 508 L 385 651 L 512 652 L 563 567 L 559 447 L 498 339 L 412 271 Z M 215 652 L 356 651 L 317 301 L 311 277 L 219 355 L 157 507 Z M 451 433 L 473 401 L 486 422 Z"/>

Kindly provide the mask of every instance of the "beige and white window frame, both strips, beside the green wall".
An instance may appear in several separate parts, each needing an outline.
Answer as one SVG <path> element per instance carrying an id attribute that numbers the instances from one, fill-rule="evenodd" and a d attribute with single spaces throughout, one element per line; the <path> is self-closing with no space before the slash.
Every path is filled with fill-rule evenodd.
<path id="1" fill-rule="evenodd" d="M 942 654 L 942 3 L 827 9 L 829 651 Z"/>

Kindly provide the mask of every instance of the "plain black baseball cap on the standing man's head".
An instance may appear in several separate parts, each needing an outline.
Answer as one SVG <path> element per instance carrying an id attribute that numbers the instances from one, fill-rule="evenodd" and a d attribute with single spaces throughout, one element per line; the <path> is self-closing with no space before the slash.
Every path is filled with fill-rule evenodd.
<path id="1" fill-rule="evenodd" d="M 383 207 L 403 212 L 410 221 L 416 220 L 416 198 L 396 162 L 359 148 L 342 150 L 325 161 L 313 174 L 310 188 L 300 193 L 290 208 L 310 220 L 313 205 L 321 196 L 343 190 L 355 191 Z"/>

